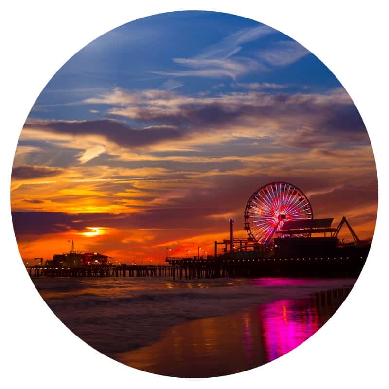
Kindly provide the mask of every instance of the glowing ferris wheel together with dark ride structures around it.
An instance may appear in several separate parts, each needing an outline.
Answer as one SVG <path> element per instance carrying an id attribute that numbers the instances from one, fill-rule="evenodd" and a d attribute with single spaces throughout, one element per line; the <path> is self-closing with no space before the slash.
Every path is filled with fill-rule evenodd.
<path id="1" fill-rule="evenodd" d="M 311 203 L 297 186 L 275 181 L 256 190 L 248 199 L 244 213 L 247 238 L 234 238 L 234 220 L 230 219 L 230 239 L 215 241 L 224 245 L 223 253 L 242 251 L 276 251 L 282 253 L 326 252 L 339 247 L 338 234 L 344 224 L 350 230 L 354 245 L 362 242 L 343 216 L 337 228 L 332 228 L 334 218 L 314 219 Z M 318 234 L 324 234 L 318 236 Z M 344 244 L 344 242 L 343 242 Z"/>

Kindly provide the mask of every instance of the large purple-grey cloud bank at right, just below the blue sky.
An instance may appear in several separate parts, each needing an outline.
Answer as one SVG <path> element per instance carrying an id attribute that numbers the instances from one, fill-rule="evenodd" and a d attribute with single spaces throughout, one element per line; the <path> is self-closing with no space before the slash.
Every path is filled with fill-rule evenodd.
<path id="1" fill-rule="evenodd" d="M 112 101 L 112 97 L 108 96 L 106 101 Z M 103 103 L 104 99 L 100 102 Z M 162 99 L 151 96 L 141 104 L 119 104 L 109 112 L 141 122 L 178 126 L 189 137 L 196 132 L 227 132 L 228 129 L 245 127 L 246 135 L 241 136 L 265 134 L 282 138 L 283 142 L 294 147 L 367 139 L 362 119 L 344 89 L 324 94 L 259 90 L 197 98 L 170 94 Z M 230 132 L 229 136 L 232 134 Z"/>

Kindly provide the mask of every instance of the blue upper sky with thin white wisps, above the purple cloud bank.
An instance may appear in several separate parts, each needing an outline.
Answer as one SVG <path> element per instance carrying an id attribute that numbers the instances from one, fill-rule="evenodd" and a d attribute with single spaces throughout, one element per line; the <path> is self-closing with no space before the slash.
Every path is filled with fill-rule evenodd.
<path id="1" fill-rule="evenodd" d="M 255 29 L 261 28 L 263 31 L 255 34 Z M 246 39 L 242 36 L 245 33 Z M 243 69 L 229 75 L 221 67 L 195 68 L 177 62 L 196 57 L 229 59 L 232 65 L 243 62 Z M 210 75 L 187 75 L 196 70 L 208 70 Z M 340 87 L 315 55 L 277 30 L 228 14 L 177 12 L 133 21 L 92 41 L 55 74 L 30 117 L 94 118 L 96 114 L 90 110 L 100 110 L 101 105 L 86 107 L 77 102 L 115 87 L 215 95 L 244 90 L 240 84 L 250 83 L 279 84 L 286 93 Z"/>

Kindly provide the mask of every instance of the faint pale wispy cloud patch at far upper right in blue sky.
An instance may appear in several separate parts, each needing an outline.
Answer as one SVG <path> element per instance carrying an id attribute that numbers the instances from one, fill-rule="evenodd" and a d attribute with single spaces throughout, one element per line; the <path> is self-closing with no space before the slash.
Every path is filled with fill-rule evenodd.
<path id="1" fill-rule="evenodd" d="M 281 41 L 266 50 L 257 53 L 258 58 L 268 65 L 286 66 L 290 65 L 310 52 L 294 40 Z"/>

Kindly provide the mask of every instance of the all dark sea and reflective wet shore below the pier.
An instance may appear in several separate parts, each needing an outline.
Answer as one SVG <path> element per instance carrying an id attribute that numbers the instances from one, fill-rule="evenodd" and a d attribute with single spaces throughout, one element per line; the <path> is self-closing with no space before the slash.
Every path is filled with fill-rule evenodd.
<path id="1" fill-rule="evenodd" d="M 336 311 L 352 279 L 39 279 L 54 313 L 129 366 L 210 377 L 260 366 L 297 347 Z"/>

